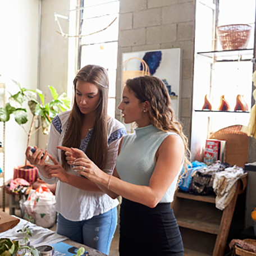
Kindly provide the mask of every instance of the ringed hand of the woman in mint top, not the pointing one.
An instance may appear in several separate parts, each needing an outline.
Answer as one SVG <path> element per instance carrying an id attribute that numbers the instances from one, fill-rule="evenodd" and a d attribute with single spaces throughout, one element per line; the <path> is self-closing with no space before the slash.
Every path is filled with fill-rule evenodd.
<path id="1" fill-rule="evenodd" d="M 86 155 L 83 158 L 77 158 L 73 163 L 73 170 L 89 180 L 103 184 L 108 180 L 108 174 L 92 162 Z"/>

